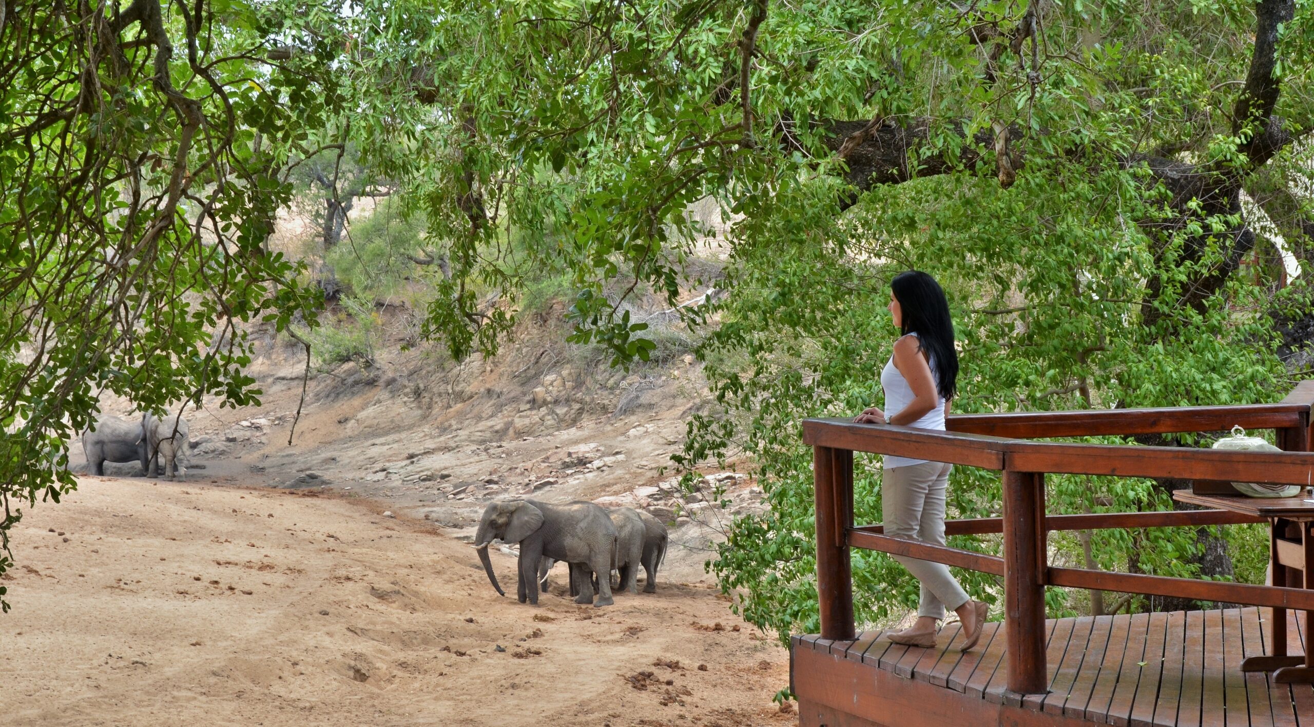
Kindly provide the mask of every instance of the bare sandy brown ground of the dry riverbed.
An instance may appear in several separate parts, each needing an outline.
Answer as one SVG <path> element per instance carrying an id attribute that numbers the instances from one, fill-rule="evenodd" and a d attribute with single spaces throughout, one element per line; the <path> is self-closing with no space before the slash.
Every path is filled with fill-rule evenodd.
<path id="1" fill-rule="evenodd" d="M 786 651 L 714 591 L 664 583 L 593 609 L 556 583 L 519 605 L 468 546 L 363 499 L 87 476 L 13 547 L 5 724 L 796 719 L 771 703 Z M 514 585 L 514 560 L 494 563 Z"/>

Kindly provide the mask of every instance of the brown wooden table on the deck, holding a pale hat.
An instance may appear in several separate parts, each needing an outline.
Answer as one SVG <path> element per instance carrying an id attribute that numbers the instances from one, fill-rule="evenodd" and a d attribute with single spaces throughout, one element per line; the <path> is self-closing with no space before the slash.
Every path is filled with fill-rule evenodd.
<path id="1" fill-rule="evenodd" d="M 1252 514 L 1268 520 L 1269 558 L 1273 563 L 1273 585 L 1314 589 L 1314 503 L 1298 497 L 1247 497 L 1244 495 L 1196 495 L 1177 489 L 1172 499 L 1205 508 Z M 1305 634 L 1310 631 L 1310 612 L 1303 612 Z M 1305 644 L 1305 655 L 1286 652 L 1286 609 L 1273 609 L 1268 622 L 1272 654 L 1251 656 L 1240 663 L 1243 672 L 1273 672 L 1273 681 L 1314 684 L 1314 648 Z"/>

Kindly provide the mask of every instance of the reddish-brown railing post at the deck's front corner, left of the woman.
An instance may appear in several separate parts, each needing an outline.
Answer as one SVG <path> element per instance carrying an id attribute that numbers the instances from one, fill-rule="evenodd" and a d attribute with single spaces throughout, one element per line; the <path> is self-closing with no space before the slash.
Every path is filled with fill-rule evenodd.
<path id="1" fill-rule="evenodd" d="M 853 526 L 853 453 L 828 446 L 812 447 L 812 482 L 821 638 L 853 639 L 853 575 L 848 543 L 848 531 Z"/>

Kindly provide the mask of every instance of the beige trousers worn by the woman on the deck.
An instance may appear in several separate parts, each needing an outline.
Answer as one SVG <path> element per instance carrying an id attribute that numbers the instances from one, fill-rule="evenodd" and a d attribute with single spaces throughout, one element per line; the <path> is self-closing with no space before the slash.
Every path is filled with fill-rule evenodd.
<path id="1" fill-rule="evenodd" d="M 953 465 L 922 462 L 886 470 L 880 484 L 880 509 L 886 534 L 908 541 L 945 545 L 945 489 Z M 945 608 L 957 610 L 968 601 L 967 592 L 949 572 L 949 566 L 894 555 L 918 581 L 921 605 L 917 615 L 945 618 Z"/>

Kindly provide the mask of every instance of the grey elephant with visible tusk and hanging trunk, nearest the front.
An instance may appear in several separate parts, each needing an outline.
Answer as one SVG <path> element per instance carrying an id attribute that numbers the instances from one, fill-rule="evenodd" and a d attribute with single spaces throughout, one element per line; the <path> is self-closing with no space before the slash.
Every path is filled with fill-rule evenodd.
<path id="1" fill-rule="evenodd" d="M 527 499 L 489 503 L 474 533 L 474 547 L 480 551 L 489 583 L 498 594 L 506 596 L 489 560 L 489 543 L 497 538 L 520 543 L 516 598 L 522 604 L 539 602 L 539 564 L 544 558 L 570 564 L 572 579 L 583 584 L 576 597 L 577 604 L 610 606 L 615 602 L 610 577 L 598 579 L 598 601 L 593 600 L 593 575 L 611 572 L 616 549 L 616 526 L 598 505 L 583 501 L 555 505 Z"/>

